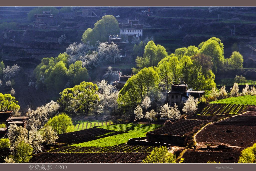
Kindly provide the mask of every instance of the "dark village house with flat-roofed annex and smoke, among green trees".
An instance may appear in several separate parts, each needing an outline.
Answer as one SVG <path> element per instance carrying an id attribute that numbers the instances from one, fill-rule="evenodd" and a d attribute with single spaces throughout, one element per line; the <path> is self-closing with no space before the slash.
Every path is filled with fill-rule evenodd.
<path id="1" fill-rule="evenodd" d="M 185 102 L 189 95 L 200 99 L 201 95 L 204 93 L 204 91 L 188 90 L 187 84 L 173 84 L 171 91 L 168 92 L 168 104 L 170 106 L 173 106 L 174 103 L 179 105 L 181 102 Z"/>

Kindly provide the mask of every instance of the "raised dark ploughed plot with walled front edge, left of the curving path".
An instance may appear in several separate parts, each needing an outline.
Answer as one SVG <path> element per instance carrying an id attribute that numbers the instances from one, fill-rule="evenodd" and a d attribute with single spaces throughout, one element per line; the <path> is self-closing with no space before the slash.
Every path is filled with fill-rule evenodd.
<path id="1" fill-rule="evenodd" d="M 148 134 L 184 136 L 193 131 L 195 127 L 206 124 L 207 122 L 209 121 L 182 119 L 173 124 L 166 125 L 154 131 L 148 132 Z"/>

